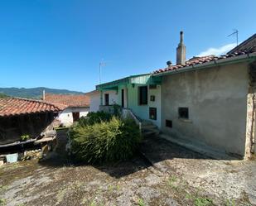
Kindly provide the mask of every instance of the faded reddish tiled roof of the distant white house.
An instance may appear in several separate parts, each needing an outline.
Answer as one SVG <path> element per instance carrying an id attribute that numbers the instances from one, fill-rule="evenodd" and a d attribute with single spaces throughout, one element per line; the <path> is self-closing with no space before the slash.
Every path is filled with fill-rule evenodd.
<path id="1" fill-rule="evenodd" d="M 46 93 L 44 100 L 48 103 L 58 103 L 67 107 L 89 107 L 89 96 Z"/>

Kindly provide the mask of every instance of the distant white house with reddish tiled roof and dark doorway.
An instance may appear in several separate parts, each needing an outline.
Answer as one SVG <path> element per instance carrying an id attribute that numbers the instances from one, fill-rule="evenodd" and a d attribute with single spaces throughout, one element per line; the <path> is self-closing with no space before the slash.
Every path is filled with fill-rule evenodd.
<path id="1" fill-rule="evenodd" d="M 65 127 L 70 127 L 73 122 L 78 121 L 80 117 L 86 117 L 87 113 L 89 113 L 89 96 L 85 94 L 70 95 L 44 93 L 43 100 L 65 108 L 57 117 L 60 124 Z"/>

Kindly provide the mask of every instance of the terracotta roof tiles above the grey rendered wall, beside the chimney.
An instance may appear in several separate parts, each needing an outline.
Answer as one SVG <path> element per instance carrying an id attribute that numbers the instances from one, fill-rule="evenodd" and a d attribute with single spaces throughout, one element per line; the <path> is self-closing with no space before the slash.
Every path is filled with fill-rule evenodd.
<path id="1" fill-rule="evenodd" d="M 186 68 L 186 67 L 189 67 L 192 65 L 203 65 L 203 64 L 211 62 L 211 61 L 229 59 L 229 58 L 239 56 L 239 55 L 247 55 L 249 53 L 251 53 L 251 52 L 244 50 L 244 51 L 234 52 L 229 55 L 220 55 L 220 56 L 207 55 L 207 56 L 202 56 L 202 57 L 193 57 L 190 60 L 187 60 L 185 65 L 173 65 L 171 67 L 157 69 L 157 70 L 153 71 L 153 74 L 164 73 L 167 71 L 177 70 L 177 69 L 181 69 L 181 68 L 183 69 L 183 68 Z"/>

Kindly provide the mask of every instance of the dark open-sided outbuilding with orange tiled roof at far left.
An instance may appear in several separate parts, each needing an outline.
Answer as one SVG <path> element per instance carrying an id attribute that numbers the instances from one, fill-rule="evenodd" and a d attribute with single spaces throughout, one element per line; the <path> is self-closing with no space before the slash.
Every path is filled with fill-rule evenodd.
<path id="1" fill-rule="evenodd" d="M 41 132 L 53 130 L 53 121 L 61 108 L 51 103 L 25 99 L 0 98 L 0 148 L 31 143 L 21 141 L 28 135 L 36 141 Z M 10 145 L 11 144 L 11 145 Z"/>

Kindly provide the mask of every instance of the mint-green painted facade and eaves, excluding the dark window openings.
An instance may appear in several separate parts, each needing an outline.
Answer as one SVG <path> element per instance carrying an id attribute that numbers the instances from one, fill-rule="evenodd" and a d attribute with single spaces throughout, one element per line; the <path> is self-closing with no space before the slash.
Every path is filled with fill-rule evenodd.
<path id="1" fill-rule="evenodd" d="M 157 84 L 157 88 L 149 89 L 150 84 Z M 139 104 L 138 90 L 141 86 L 147 86 L 147 105 Z M 101 105 L 104 105 L 105 93 L 109 93 L 110 104 L 117 103 L 122 105 L 123 89 L 123 108 L 129 108 L 142 120 L 149 120 L 157 125 L 157 127 L 161 127 L 161 78 L 152 78 L 151 74 L 130 76 L 107 84 L 99 84 L 96 86 L 96 89 L 101 91 Z M 155 97 L 154 101 L 151 101 L 152 95 Z M 157 108 L 157 120 L 150 119 L 149 108 Z"/>

